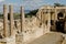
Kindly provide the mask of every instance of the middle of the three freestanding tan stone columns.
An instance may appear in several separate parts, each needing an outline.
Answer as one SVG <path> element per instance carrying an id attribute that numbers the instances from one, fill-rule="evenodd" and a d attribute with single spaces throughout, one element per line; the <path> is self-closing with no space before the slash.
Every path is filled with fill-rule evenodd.
<path id="1" fill-rule="evenodd" d="M 10 13 L 10 35 L 13 35 L 13 7 L 9 6 Z"/>

